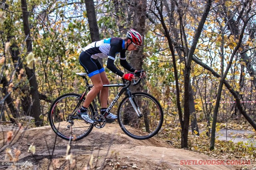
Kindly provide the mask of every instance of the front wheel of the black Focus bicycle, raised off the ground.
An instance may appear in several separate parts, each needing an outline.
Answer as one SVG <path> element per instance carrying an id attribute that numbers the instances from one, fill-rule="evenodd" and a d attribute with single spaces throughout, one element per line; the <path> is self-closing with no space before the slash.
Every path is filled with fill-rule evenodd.
<path id="1" fill-rule="evenodd" d="M 118 123 L 126 135 L 133 139 L 144 140 L 156 135 L 164 121 L 162 106 L 152 95 L 144 92 L 132 93 L 142 117 L 139 118 L 126 96 L 118 107 Z"/>

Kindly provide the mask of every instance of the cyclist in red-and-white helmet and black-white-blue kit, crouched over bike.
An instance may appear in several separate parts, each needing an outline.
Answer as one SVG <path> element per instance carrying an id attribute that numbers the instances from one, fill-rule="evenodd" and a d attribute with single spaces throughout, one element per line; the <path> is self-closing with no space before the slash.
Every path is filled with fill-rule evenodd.
<path id="1" fill-rule="evenodd" d="M 83 106 L 77 111 L 77 114 L 80 115 L 84 121 L 87 123 L 94 123 L 87 114 L 87 108 L 99 92 L 101 114 L 104 115 L 106 119 L 117 119 L 116 115 L 110 112 L 106 113 L 108 88 L 103 88 L 103 84 L 109 84 L 110 82 L 106 76 L 104 68 L 98 61 L 98 57 L 108 57 L 108 69 L 126 80 L 132 80 L 135 78 L 134 75 L 130 73 L 124 74 L 122 71 L 118 70 L 114 65 L 114 60 L 116 58 L 116 53 L 120 53 L 120 65 L 130 72 L 140 73 L 140 71 L 132 68 L 132 66 L 126 61 L 125 53 L 126 51 L 136 50 L 137 47 L 141 46 L 142 36 L 134 29 L 130 29 L 130 31 L 126 33 L 126 38 L 112 37 L 102 39 L 100 41 L 90 43 L 84 48 L 79 56 L 79 63 L 86 70 L 88 76 L 92 80 L 92 84 L 94 85 L 90 92 L 88 92 Z"/>

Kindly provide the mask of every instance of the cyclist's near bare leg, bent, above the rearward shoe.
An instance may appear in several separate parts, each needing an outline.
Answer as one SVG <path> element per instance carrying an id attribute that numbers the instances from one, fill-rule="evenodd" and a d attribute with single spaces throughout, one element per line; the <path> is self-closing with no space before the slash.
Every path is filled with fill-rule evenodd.
<path id="1" fill-rule="evenodd" d="M 100 77 L 100 74 L 95 74 L 94 76 L 90 77 L 90 79 L 92 80 L 92 84 L 94 85 L 93 88 L 88 92 L 84 104 L 84 107 L 89 107 L 90 103 L 92 102 L 92 100 L 94 100 L 94 98 L 96 98 L 97 94 L 100 92 L 100 90 L 102 90 L 103 88 L 103 84 L 102 84 L 102 80 Z"/>

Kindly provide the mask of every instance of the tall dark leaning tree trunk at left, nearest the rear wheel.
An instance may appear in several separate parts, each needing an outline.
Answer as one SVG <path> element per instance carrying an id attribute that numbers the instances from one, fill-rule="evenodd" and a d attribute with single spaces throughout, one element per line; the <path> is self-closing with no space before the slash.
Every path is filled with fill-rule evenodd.
<path id="1" fill-rule="evenodd" d="M 27 54 L 32 52 L 32 38 L 30 37 L 30 26 L 28 23 L 29 12 L 27 9 L 26 0 L 21 0 L 22 7 L 22 19 L 23 19 L 23 27 L 24 33 L 26 36 L 26 46 L 27 46 Z M 28 76 L 29 84 L 30 84 L 30 94 L 32 96 L 32 106 L 31 106 L 31 115 L 35 118 L 35 125 L 42 126 L 42 119 L 39 118 L 41 114 L 41 105 L 38 93 L 38 84 L 36 82 L 36 74 L 35 74 L 35 66 L 33 64 L 33 68 L 30 69 L 28 66 L 25 66 L 26 74 Z"/>

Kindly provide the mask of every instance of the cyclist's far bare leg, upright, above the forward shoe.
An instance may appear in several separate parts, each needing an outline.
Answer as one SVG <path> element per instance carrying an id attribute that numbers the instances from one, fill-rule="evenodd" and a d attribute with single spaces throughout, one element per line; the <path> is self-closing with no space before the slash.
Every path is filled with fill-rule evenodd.
<path id="1" fill-rule="evenodd" d="M 102 80 L 102 84 L 109 84 L 109 80 L 106 75 L 106 72 L 101 72 L 100 77 Z M 108 103 L 108 87 L 104 87 L 104 88 L 102 88 L 102 90 L 100 90 L 101 108 L 107 108 L 107 103 Z"/>

